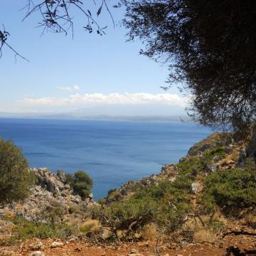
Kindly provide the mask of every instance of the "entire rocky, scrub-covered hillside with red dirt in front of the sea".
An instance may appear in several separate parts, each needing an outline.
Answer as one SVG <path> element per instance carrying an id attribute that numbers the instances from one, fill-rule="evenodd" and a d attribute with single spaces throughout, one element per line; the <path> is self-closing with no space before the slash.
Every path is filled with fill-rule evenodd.
<path id="1" fill-rule="evenodd" d="M 212 134 L 98 203 L 75 195 L 63 171 L 31 169 L 31 197 L 0 211 L 0 255 L 256 255 L 252 152 Z"/>

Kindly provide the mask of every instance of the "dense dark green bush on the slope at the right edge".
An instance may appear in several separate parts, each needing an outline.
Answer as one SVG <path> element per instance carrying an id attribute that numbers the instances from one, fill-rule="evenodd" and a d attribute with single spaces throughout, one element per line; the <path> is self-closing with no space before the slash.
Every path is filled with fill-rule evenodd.
<path id="1" fill-rule="evenodd" d="M 220 206 L 227 213 L 256 205 L 256 166 L 248 160 L 244 168 L 217 171 L 203 183 L 202 204 L 210 211 Z"/>

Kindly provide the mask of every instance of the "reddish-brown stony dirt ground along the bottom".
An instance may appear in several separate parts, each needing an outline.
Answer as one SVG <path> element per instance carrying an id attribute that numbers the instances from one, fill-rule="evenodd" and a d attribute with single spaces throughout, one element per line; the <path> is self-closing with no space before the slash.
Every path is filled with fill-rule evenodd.
<path id="1" fill-rule="evenodd" d="M 21 245 L 12 247 L 1 247 L 0 255 L 31 255 L 29 245 L 36 240 L 27 240 Z M 162 255 L 162 256 L 215 256 L 225 255 L 226 248 L 233 245 L 240 248 L 241 251 L 256 250 L 256 236 L 251 235 L 228 235 L 223 240 L 219 241 L 217 245 L 203 244 L 203 245 L 188 245 L 186 247 L 169 248 L 168 245 L 160 245 L 159 253 L 156 252 L 156 245 L 152 242 L 136 242 L 136 243 L 119 243 L 111 246 L 95 246 L 89 245 L 85 242 L 63 242 L 63 247 L 50 248 L 54 240 L 41 240 L 45 249 L 43 253 L 46 256 L 127 256 L 132 249 L 144 256 Z M 9 253 L 8 253 L 9 252 Z M 135 256 L 136 254 L 134 254 Z M 232 254 L 231 254 L 232 255 Z M 252 255 L 252 254 L 251 254 Z M 256 255 L 256 254 L 255 254 Z"/>

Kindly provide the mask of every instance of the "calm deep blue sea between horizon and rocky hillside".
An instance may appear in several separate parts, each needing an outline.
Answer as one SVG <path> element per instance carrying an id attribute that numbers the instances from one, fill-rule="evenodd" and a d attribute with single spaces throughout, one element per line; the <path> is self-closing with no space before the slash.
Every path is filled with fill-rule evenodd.
<path id="1" fill-rule="evenodd" d="M 31 167 L 86 171 L 96 199 L 126 181 L 159 173 L 210 132 L 183 122 L 0 119 L 0 137 L 13 139 Z"/>

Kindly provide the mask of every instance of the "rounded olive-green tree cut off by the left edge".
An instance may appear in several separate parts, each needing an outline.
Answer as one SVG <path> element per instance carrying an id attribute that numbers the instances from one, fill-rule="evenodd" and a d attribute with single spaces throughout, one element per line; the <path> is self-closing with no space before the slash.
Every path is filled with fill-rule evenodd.
<path id="1" fill-rule="evenodd" d="M 28 161 L 11 140 L 0 138 L 0 203 L 22 201 L 33 186 Z"/>

